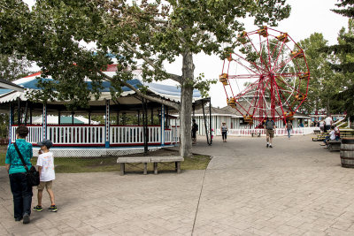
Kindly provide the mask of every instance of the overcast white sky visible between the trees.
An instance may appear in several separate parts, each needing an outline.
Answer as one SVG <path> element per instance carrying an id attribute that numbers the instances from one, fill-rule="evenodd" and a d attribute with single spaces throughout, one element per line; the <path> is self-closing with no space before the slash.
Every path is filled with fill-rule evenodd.
<path id="1" fill-rule="evenodd" d="M 30 6 L 34 0 L 24 0 Z M 289 19 L 279 22 L 278 27 L 273 27 L 281 32 L 287 32 L 291 38 L 299 42 L 308 38 L 311 34 L 322 33 L 329 44 L 335 44 L 339 30 L 347 27 L 348 18 L 335 14 L 330 9 L 336 9 L 337 0 L 288 0 L 291 5 Z M 247 32 L 253 31 L 258 27 L 253 25 L 253 20 L 246 20 L 245 28 Z M 195 57 L 196 75 L 204 72 L 206 79 L 217 79 L 222 69 L 222 61 L 219 57 L 197 55 Z M 173 65 L 165 65 L 168 72 L 181 74 L 181 58 Z M 168 84 L 169 82 L 165 82 Z M 221 83 L 212 85 L 210 95 L 212 105 L 226 106 L 226 95 Z"/>

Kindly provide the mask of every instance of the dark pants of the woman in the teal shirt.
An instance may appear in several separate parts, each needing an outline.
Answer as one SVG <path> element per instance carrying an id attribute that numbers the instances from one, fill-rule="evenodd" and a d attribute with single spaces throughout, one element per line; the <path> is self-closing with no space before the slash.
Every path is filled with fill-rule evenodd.
<path id="1" fill-rule="evenodd" d="M 15 218 L 21 218 L 25 213 L 31 215 L 32 187 L 28 186 L 26 173 L 10 174 L 10 187 L 13 195 L 13 211 Z"/>

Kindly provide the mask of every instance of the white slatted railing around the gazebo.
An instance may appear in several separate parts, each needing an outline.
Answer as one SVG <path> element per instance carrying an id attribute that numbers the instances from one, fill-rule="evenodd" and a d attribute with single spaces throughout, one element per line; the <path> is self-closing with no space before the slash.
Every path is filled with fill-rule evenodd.
<path id="1" fill-rule="evenodd" d="M 12 125 L 11 141 L 16 141 L 16 129 Z M 42 126 L 28 125 L 26 141 L 34 146 L 42 141 Z M 142 126 L 110 126 L 109 146 L 141 146 L 144 143 Z M 173 144 L 179 141 L 179 127 L 165 129 L 162 141 L 161 126 L 147 127 L 148 145 Z M 47 139 L 57 147 L 104 147 L 105 126 L 102 125 L 48 125 Z"/>

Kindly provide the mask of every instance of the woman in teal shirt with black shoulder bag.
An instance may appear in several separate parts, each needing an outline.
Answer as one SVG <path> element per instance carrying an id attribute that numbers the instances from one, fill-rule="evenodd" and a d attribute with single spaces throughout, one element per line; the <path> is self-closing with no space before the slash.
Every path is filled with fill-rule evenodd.
<path id="1" fill-rule="evenodd" d="M 27 134 L 28 128 L 26 126 L 19 126 L 16 130 L 16 144 L 29 170 L 32 166 L 33 149 L 32 144 L 25 141 Z M 13 144 L 7 148 L 5 167 L 10 178 L 15 221 L 20 221 L 23 218 L 23 224 L 28 224 L 31 215 L 32 187 L 27 184 L 26 169 Z"/>

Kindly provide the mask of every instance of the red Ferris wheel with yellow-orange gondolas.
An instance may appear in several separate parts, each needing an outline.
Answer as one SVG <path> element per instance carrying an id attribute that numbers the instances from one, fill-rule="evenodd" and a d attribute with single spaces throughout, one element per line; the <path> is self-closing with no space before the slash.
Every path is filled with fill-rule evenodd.
<path id="1" fill-rule="evenodd" d="M 219 76 L 227 105 L 258 128 L 267 117 L 293 120 L 309 88 L 304 50 L 289 34 L 269 27 L 242 32 L 237 41 L 241 49 L 227 54 Z"/>

